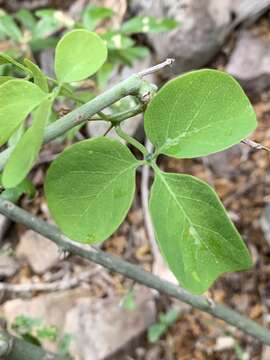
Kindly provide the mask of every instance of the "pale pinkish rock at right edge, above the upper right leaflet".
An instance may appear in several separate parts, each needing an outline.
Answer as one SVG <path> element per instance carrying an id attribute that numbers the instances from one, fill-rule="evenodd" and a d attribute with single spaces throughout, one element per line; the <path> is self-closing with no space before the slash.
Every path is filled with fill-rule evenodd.
<path id="1" fill-rule="evenodd" d="M 249 92 L 259 94 L 269 89 L 269 39 L 259 37 L 251 31 L 241 32 L 226 70 Z"/>

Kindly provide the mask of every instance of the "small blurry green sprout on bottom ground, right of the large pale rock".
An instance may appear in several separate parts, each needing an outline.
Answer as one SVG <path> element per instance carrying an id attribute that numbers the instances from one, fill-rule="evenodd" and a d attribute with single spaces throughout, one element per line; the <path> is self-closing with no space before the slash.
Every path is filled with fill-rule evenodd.
<path id="1" fill-rule="evenodd" d="M 171 309 L 167 313 L 159 315 L 159 321 L 151 325 L 147 330 L 147 339 L 150 343 L 156 343 L 166 334 L 168 328 L 173 325 L 179 317 L 179 311 Z"/>

